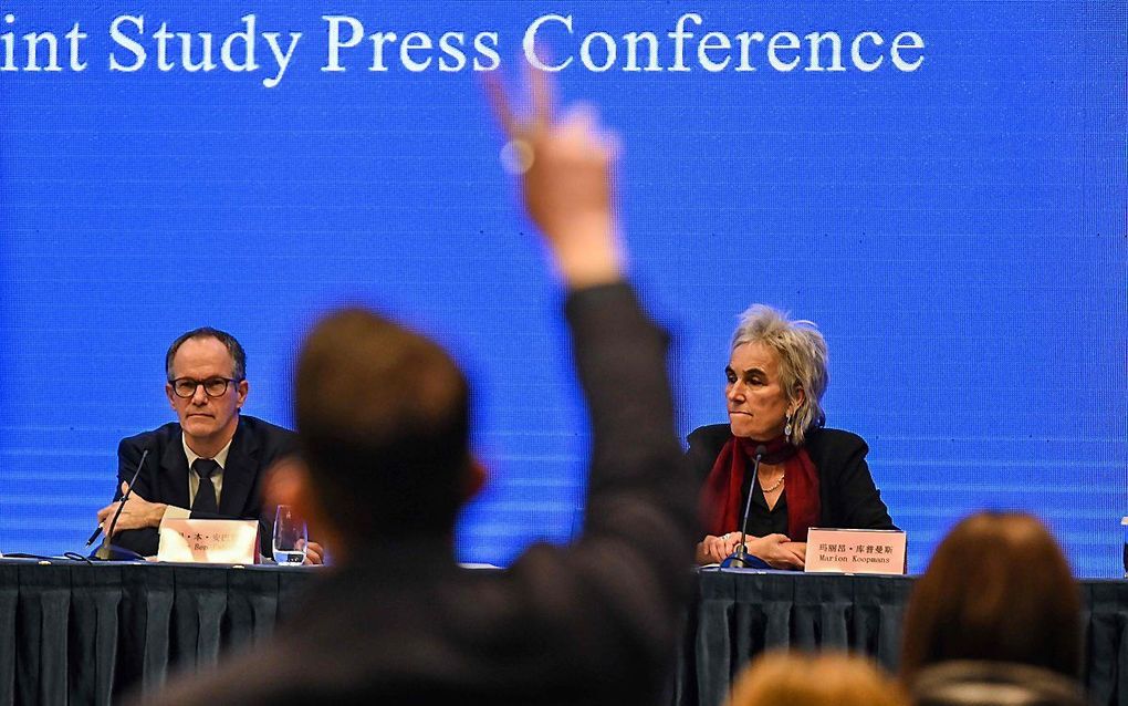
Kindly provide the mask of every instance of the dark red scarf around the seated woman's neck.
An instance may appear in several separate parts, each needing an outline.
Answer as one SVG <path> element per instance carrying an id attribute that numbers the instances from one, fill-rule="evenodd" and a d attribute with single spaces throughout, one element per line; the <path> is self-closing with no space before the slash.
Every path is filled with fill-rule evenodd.
<path id="1" fill-rule="evenodd" d="M 740 521 L 744 514 L 741 486 L 744 476 L 755 465 L 756 447 L 759 445 L 759 442 L 734 436 L 721 447 L 702 493 L 702 516 L 710 534 L 740 531 Z M 784 464 L 787 537 L 795 542 L 805 542 L 807 530 L 818 524 L 821 512 L 819 473 L 807 450 L 792 446 L 783 436 L 764 446 L 767 453 L 761 456 L 761 463 Z"/>

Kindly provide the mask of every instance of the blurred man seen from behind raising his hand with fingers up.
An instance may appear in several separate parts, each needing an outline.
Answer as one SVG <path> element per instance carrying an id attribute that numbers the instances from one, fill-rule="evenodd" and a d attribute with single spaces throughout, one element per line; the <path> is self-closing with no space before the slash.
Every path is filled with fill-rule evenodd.
<path id="1" fill-rule="evenodd" d="M 455 517 L 482 478 L 466 380 L 430 340 L 365 310 L 337 313 L 302 346 L 303 461 L 276 473 L 268 494 L 299 506 L 340 563 L 261 652 L 153 703 L 660 698 L 698 526 L 673 433 L 667 341 L 623 281 L 614 147 L 583 114 L 554 123 L 546 89 L 535 95 L 531 123 L 502 113 L 522 143 L 513 151 L 530 157 L 526 203 L 569 289 L 592 426 L 583 535 L 570 547 L 535 544 L 504 572 L 460 569 Z M 535 391 L 538 367 L 521 374 Z"/>

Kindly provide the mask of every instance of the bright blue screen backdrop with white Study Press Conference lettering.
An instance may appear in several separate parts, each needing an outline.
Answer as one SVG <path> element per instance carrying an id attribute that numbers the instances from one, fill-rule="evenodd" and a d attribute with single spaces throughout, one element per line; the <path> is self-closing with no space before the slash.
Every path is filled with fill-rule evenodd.
<path id="1" fill-rule="evenodd" d="M 298 341 L 367 303 L 458 351 L 505 564 L 580 529 L 561 293 L 483 97 L 540 61 L 622 134 L 633 277 L 681 434 L 735 317 L 817 322 L 910 568 L 980 508 L 1116 576 L 1126 452 L 1126 2 L 0 1 L 0 551 L 80 549 L 118 438 L 209 324 L 289 425 Z M 393 36 L 394 35 L 394 36 Z M 541 59 L 526 45 L 544 47 Z"/>

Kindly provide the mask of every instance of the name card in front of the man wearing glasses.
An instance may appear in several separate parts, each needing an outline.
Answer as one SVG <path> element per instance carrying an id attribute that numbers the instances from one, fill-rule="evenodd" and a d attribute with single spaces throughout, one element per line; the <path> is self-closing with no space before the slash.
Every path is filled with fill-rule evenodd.
<path id="1" fill-rule="evenodd" d="M 158 561 L 255 564 L 258 523 L 254 520 L 173 520 L 160 523 Z"/>

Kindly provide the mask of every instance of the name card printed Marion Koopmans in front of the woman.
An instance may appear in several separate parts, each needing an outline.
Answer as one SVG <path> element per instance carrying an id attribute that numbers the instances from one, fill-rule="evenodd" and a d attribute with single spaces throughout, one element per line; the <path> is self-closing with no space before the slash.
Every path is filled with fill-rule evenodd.
<path id="1" fill-rule="evenodd" d="M 828 530 L 807 533 L 807 572 L 830 574 L 904 574 L 905 532 Z"/>

